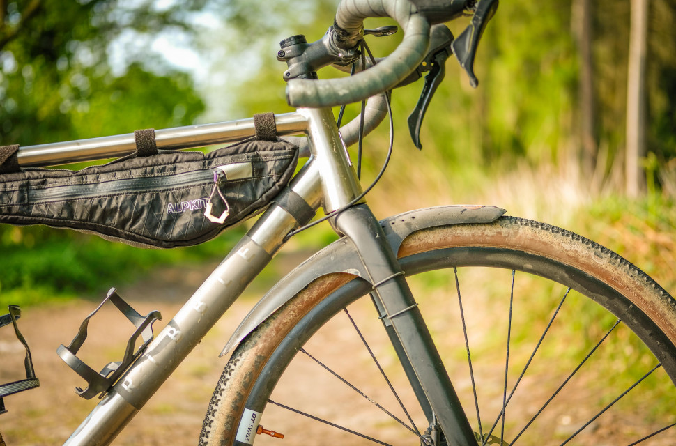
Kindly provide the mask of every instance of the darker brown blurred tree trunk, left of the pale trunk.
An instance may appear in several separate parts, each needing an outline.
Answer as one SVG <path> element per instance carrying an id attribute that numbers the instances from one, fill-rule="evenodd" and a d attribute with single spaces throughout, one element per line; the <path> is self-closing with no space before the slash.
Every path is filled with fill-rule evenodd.
<path id="1" fill-rule="evenodd" d="M 596 105 L 594 100 L 594 67 L 592 57 L 591 0 L 574 0 L 572 31 L 578 47 L 580 84 L 578 87 L 578 130 L 582 171 L 590 178 L 597 162 Z"/>

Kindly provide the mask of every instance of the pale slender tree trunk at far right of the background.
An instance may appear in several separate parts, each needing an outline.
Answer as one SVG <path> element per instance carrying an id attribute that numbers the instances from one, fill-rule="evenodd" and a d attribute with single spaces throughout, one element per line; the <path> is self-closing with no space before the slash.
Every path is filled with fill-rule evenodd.
<path id="1" fill-rule="evenodd" d="M 647 56 L 648 0 L 631 0 L 629 73 L 627 77 L 627 151 L 624 175 L 629 197 L 645 192 L 645 59 Z"/>

